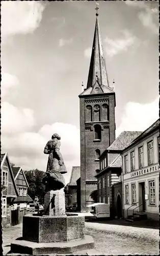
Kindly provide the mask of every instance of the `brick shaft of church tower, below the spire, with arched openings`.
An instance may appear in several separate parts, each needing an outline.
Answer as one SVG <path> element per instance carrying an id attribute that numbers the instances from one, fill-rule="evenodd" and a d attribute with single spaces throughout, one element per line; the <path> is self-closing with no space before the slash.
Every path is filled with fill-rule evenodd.
<path id="1" fill-rule="evenodd" d="M 95 170 L 99 169 L 99 162 L 95 161 L 97 149 L 102 153 L 115 140 L 115 95 L 103 96 L 85 96 L 80 98 L 80 134 L 81 134 L 81 210 L 86 210 L 86 200 L 92 193 L 92 186 L 86 190 L 86 180 L 96 180 Z M 102 105 L 108 104 L 109 120 L 104 120 L 104 113 Z M 100 106 L 100 119 L 94 113 L 94 105 Z M 91 112 L 88 105 L 92 108 L 92 122 L 90 116 Z M 87 112 L 87 113 L 86 113 Z M 95 115 L 94 115 L 95 114 Z M 100 120 L 100 122 L 99 122 Z M 101 141 L 94 141 L 95 131 L 94 125 L 101 125 Z M 93 188 L 95 189 L 95 187 Z M 86 194 L 87 191 L 87 194 Z"/>

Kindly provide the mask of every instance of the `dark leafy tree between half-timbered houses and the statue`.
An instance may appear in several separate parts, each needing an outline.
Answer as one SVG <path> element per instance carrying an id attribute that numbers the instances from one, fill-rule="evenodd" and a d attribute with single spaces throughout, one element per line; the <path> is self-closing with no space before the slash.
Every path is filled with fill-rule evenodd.
<path id="1" fill-rule="evenodd" d="M 25 177 L 26 180 L 29 183 L 29 189 L 28 189 L 28 195 L 32 198 L 35 199 L 37 196 L 39 199 L 39 203 L 43 204 L 44 203 L 44 189 L 45 185 L 42 183 L 42 179 L 45 176 L 45 172 L 38 170 L 38 169 L 33 169 L 33 170 L 25 170 Z"/>

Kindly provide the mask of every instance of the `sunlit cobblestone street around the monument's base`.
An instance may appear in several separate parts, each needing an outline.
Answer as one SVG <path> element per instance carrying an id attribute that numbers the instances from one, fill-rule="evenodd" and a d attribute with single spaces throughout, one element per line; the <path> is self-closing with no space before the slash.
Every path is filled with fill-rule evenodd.
<path id="1" fill-rule="evenodd" d="M 85 233 L 93 237 L 95 249 L 79 251 L 75 255 L 159 254 L 158 229 L 94 222 L 85 222 L 85 225 Z M 4 228 L 3 255 L 10 251 L 11 242 L 18 237 L 22 237 L 22 224 Z"/>

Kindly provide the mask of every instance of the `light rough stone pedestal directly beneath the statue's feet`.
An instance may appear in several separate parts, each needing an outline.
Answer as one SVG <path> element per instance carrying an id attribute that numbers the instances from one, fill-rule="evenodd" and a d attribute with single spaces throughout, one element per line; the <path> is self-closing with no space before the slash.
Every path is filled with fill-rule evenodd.
<path id="1" fill-rule="evenodd" d="M 49 204 L 50 200 L 52 202 Z M 49 206 L 48 206 L 49 205 Z M 65 193 L 64 188 L 50 190 L 44 197 L 44 211 L 47 216 L 64 216 L 65 214 Z"/>

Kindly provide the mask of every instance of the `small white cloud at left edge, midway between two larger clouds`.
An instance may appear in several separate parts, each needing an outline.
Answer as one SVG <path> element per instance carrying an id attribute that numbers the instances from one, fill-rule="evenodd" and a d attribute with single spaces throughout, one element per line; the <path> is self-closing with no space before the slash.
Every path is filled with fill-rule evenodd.
<path id="1" fill-rule="evenodd" d="M 15 88 L 18 86 L 19 80 L 16 76 L 11 75 L 9 73 L 2 72 L 2 80 L 1 80 L 1 97 L 2 99 L 6 96 L 11 90 L 11 88 Z"/>

